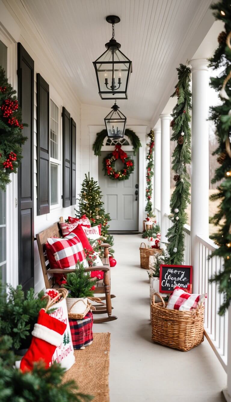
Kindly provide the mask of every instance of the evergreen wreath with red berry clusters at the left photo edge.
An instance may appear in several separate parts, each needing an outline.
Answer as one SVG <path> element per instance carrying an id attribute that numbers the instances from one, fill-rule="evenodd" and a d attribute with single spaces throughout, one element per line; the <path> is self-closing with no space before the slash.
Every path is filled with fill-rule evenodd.
<path id="1" fill-rule="evenodd" d="M 21 145 L 26 141 L 22 129 L 22 112 L 18 107 L 16 91 L 8 83 L 0 66 L 0 189 L 6 190 L 10 173 L 16 173 L 22 159 Z"/>

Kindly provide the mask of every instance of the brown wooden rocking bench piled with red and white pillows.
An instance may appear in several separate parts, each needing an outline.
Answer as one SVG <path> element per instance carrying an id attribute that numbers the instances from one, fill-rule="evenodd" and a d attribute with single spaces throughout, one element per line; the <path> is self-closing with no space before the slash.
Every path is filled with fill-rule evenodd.
<path id="1" fill-rule="evenodd" d="M 60 219 L 60 222 L 63 222 L 63 219 Z M 39 256 L 41 260 L 41 266 L 43 270 L 43 277 L 45 282 L 46 289 L 49 288 L 59 288 L 60 285 L 55 282 L 55 278 L 53 274 L 56 273 L 64 273 L 67 275 L 69 272 L 75 272 L 74 269 L 51 269 L 49 265 L 49 260 L 47 258 L 45 244 L 47 243 L 47 239 L 49 237 L 61 237 L 61 229 L 59 226 L 59 222 L 56 222 L 49 228 L 43 230 L 42 232 L 36 234 L 36 240 L 39 248 Z M 94 323 L 102 323 L 107 321 L 117 320 L 116 316 L 111 315 L 111 299 L 116 297 L 115 295 L 111 295 L 111 284 L 110 284 L 110 265 L 109 265 L 109 247 L 110 245 L 107 243 L 102 243 L 101 248 L 103 248 L 103 266 L 102 267 L 89 267 L 85 268 L 85 272 L 91 271 L 103 271 L 103 281 L 101 281 L 100 285 L 95 287 L 94 293 L 102 293 L 105 296 L 99 297 L 101 300 L 105 300 L 106 306 L 95 306 L 96 310 L 93 311 L 93 314 L 107 314 L 107 317 L 104 318 L 94 318 Z"/>

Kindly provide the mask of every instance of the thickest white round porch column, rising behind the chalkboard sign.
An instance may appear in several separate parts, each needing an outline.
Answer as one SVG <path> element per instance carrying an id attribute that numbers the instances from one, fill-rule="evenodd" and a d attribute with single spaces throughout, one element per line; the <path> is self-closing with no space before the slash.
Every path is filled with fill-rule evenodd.
<path id="1" fill-rule="evenodd" d="M 207 59 L 194 59 L 192 66 L 192 174 L 191 174 L 191 264 L 193 292 L 199 292 L 199 247 L 197 235 L 209 237 L 209 73 Z"/>

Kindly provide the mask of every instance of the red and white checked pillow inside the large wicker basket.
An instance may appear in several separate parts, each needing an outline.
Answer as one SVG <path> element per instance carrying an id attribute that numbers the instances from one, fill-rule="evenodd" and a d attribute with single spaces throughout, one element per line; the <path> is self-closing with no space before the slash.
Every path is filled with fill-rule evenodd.
<path id="1" fill-rule="evenodd" d="M 181 287 L 176 286 L 169 297 L 167 308 L 169 310 L 189 311 L 205 303 L 206 293 L 203 295 L 186 293 Z"/>

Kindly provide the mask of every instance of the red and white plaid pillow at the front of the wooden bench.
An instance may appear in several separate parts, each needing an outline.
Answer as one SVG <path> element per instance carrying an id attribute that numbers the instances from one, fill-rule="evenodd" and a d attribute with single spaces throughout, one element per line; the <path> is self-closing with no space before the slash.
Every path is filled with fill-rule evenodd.
<path id="1" fill-rule="evenodd" d="M 51 250 L 59 268 L 75 269 L 77 261 L 83 262 L 84 267 L 88 267 L 82 243 L 76 234 L 70 233 L 64 239 L 58 237 L 48 238 L 47 242 L 51 245 Z"/>

